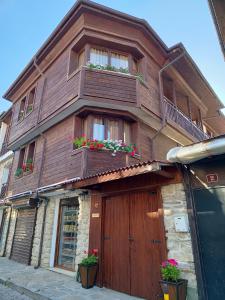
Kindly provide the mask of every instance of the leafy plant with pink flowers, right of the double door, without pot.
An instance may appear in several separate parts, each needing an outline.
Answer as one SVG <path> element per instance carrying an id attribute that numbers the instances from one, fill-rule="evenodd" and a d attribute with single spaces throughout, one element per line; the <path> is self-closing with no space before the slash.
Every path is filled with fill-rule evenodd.
<path id="1" fill-rule="evenodd" d="M 161 274 L 165 281 L 178 281 L 180 279 L 180 273 L 178 262 L 175 259 L 168 259 L 161 265 Z"/>

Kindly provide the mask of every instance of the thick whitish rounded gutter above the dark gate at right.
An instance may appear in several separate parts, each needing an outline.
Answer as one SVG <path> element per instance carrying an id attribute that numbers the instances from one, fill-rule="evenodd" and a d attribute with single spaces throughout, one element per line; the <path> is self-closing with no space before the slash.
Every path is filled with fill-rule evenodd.
<path id="1" fill-rule="evenodd" d="M 172 148 L 167 160 L 173 163 L 190 164 L 209 156 L 225 153 L 225 135 L 185 147 Z"/>

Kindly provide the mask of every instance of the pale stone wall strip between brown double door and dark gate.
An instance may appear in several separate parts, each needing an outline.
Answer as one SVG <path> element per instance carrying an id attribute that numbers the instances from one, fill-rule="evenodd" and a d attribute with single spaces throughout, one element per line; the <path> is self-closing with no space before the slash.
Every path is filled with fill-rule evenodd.
<path id="1" fill-rule="evenodd" d="M 188 219 L 184 186 L 181 183 L 163 186 L 161 194 L 168 258 L 178 260 L 182 269 L 182 278 L 188 280 L 188 299 L 198 299 L 191 235 L 190 232 L 176 232 L 174 225 L 175 216 L 186 215 Z"/>

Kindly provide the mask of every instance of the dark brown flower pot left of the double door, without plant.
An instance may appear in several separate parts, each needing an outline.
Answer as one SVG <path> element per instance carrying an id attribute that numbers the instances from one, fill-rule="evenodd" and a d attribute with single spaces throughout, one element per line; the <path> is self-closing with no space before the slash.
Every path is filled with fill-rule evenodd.
<path id="1" fill-rule="evenodd" d="M 79 265 L 81 285 L 85 289 L 92 288 L 95 284 L 98 265 L 83 266 Z"/>

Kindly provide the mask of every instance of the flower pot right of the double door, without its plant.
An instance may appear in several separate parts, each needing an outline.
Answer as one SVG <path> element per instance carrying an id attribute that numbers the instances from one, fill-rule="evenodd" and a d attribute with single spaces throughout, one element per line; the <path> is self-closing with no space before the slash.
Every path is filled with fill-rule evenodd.
<path id="1" fill-rule="evenodd" d="M 160 281 L 163 294 L 169 295 L 169 300 L 186 300 L 187 298 L 187 280 L 179 279 L 177 282 Z"/>

